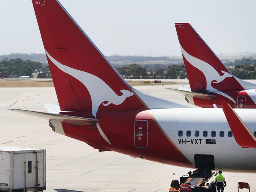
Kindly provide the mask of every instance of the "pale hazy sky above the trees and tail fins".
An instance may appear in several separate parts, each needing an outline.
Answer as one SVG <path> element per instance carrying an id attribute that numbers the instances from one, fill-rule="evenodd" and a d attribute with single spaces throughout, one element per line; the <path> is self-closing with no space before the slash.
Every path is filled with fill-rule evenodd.
<path id="1" fill-rule="evenodd" d="M 256 52 L 255 0 L 60 0 L 104 55 L 181 55 L 175 22 L 217 54 Z M 0 55 L 43 53 L 31 0 L 0 0 Z"/>

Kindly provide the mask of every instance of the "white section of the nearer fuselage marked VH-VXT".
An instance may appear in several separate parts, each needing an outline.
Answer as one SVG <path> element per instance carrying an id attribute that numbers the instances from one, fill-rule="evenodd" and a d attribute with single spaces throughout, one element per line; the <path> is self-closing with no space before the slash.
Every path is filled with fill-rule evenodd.
<path id="1" fill-rule="evenodd" d="M 166 135 L 186 158 L 195 164 L 194 155 L 214 155 L 215 169 L 232 172 L 256 172 L 256 149 L 241 148 L 231 131 L 222 109 L 152 109 L 149 110 Z M 250 131 L 256 131 L 256 109 L 235 109 Z M 178 132 L 183 135 L 179 136 Z M 191 131 L 191 136 L 187 136 Z M 195 136 L 197 132 L 197 137 Z M 207 136 L 203 136 L 207 131 Z M 211 136 L 215 131 L 216 136 Z M 224 131 L 224 137 L 220 137 Z M 223 133 L 223 132 L 222 132 Z M 206 144 L 215 139 L 215 144 Z M 214 142 L 214 140 L 213 140 Z"/>

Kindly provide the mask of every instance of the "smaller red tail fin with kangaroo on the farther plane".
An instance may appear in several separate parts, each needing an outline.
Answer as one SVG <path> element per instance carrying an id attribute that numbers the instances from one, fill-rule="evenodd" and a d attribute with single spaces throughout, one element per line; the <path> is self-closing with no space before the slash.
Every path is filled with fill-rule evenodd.
<path id="1" fill-rule="evenodd" d="M 192 91 L 255 89 L 234 76 L 189 23 L 175 23 L 175 28 Z"/>

